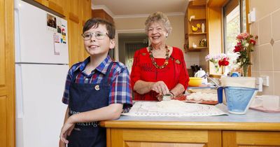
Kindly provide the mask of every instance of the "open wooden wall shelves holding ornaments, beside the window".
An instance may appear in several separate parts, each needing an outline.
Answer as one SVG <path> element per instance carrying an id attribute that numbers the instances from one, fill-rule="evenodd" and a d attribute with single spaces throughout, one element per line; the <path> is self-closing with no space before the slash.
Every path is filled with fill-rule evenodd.
<path id="1" fill-rule="evenodd" d="M 207 49 L 206 0 L 190 1 L 185 17 L 185 49 L 200 51 Z"/>

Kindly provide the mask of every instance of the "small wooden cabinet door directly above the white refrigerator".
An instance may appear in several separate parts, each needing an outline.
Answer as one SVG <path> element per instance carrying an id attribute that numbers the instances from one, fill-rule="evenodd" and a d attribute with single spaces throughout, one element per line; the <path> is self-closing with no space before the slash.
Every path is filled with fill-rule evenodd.
<path id="1" fill-rule="evenodd" d="M 43 6 L 54 10 L 55 12 L 65 15 L 66 13 L 66 0 L 34 0 L 38 3 L 41 3 Z"/>

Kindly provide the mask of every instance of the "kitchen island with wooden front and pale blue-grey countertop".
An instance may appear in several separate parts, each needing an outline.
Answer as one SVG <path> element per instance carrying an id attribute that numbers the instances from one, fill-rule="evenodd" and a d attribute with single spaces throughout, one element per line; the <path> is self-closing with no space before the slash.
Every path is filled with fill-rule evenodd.
<path id="1" fill-rule="evenodd" d="M 216 105 L 228 112 L 223 104 Z M 280 146 L 280 113 L 170 117 L 121 116 L 100 122 L 107 146 Z"/>

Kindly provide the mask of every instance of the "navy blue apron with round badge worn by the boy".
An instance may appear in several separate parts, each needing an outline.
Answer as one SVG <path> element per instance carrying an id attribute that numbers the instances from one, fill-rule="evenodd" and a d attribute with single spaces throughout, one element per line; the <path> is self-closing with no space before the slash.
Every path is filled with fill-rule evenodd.
<path id="1" fill-rule="evenodd" d="M 69 92 L 69 116 L 109 105 L 110 83 L 108 83 L 108 76 L 112 64 L 113 62 L 109 65 L 106 76 L 99 84 L 75 83 L 75 78 L 73 78 Z M 77 73 L 74 73 L 73 77 L 76 75 Z M 76 123 L 67 139 L 69 140 L 68 147 L 105 147 L 106 128 L 99 127 L 97 122 Z"/>

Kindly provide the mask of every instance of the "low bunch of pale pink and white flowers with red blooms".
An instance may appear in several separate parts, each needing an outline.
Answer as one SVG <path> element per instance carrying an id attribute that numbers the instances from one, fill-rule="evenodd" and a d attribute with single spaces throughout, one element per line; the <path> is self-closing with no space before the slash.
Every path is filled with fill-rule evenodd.
<path id="1" fill-rule="evenodd" d="M 218 73 L 221 66 L 228 66 L 230 69 L 235 69 L 237 57 L 239 57 L 239 52 L 228 52 L 228 54 L 209 54 L 205 57 L 205 60 L 212 62 L 215 66 L 215 72 Z"/>

